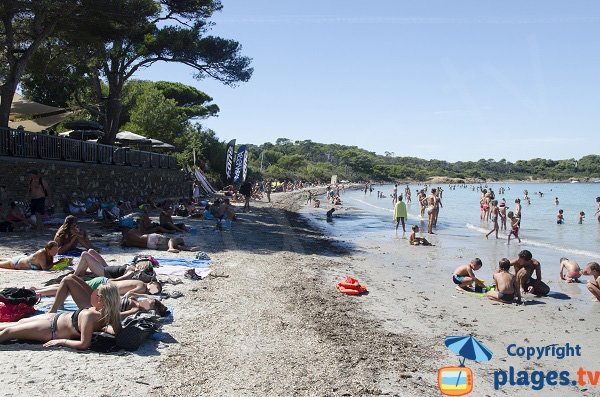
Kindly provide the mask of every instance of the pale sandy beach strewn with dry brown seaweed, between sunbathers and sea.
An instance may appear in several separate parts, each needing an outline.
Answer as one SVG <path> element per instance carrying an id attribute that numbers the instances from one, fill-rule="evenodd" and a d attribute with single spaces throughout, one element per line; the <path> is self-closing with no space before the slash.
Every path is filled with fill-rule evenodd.
<path id="1" fill-rule="evenodd" d="M 600 305 L 590 302 L 582 311 L 568 300 L 548 304 L 557 298 L 501 305 L 461 294 L 441 264 L 449 255 L 471 258 L 468 248 L 411 247 L 401 239 L 341 244 L 297 213 L 302 193 L 272 197 L 271 204 L 253 202 L 252 212 L 240 213 L 230 230 L 186 221 L 199 232 L 184 237 L 211 256 L 213 277 L 165 287 L 184 296 L 165 301 L 174 321 L 164 326 L 162 341 L 114 354 L 2 345 L 3 394 L 437 396 L 438 368 L 458 364 L 444 346 L 449 335 L 473 335 L 494 352 L 490 362 L 467 363 L 475 377 L 473 395 L 532 395 L 526 386 L 494 389 L 493 372 L 509 366 L 598 370 L 600 348 L 592 341 Z M 116 237 L 106 236 L 96 241 L 109 264 L 148 252 L 107 245 Z M 31 252 L 50 237 L 2 235 L 0 252 Z M 337 292 L 335 284 L 346 274 L 369 293 Z M 0 287 L 41 285 L 56 276 L 1 271 Z M 580 344 L 582 355 L 527 361 L 506 350 L 513 343 L 567 342 Z M 593 395 L 594 388 L 546 386 L 542 393 Z"/>

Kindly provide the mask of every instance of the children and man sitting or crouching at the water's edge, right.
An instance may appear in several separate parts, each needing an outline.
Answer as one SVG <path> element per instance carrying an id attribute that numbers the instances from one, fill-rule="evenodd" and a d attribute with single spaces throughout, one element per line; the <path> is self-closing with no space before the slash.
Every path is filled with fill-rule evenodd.
<path id="1" fill-rule="evenodd" d="M 493 275 L 494 286 L 486 291 L 487 286 L 475 276 L 475 271 L 482 267 L 481 259 L 475 258 L 466 265 L 457 267 L 452 274 L 452 281 L 459 291 L 486 292 L 488 298 L 502 303 L 522 303 L 522 295 L 531 293 L 536 296 L 546 296 L 550 287 L 542 281 L 540 262 L 532 257 L 528 250 L 522 250 L 514 260 L 502 258 L 498 269 Z M 515 273 L 510 272 L 510 268 Z M 582 271 L 574 260 L 560 259 L 560 279 L 569 283 L 579 282 L 583 275 L 593 279 L 587 283 L 593 300 L 600 301 L 600 265 L 590 262 Z"/>

